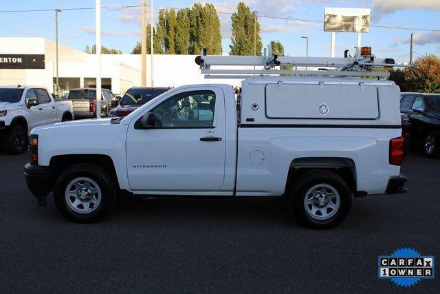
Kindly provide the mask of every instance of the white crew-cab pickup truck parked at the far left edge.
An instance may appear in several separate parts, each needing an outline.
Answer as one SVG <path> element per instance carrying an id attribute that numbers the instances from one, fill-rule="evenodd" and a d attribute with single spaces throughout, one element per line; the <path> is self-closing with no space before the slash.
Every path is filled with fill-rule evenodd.
<path id="1" fill-rule="evenodd" d="M 73 118 L 72 101 L 54 101 L 45 87 L 0 86 L 0 143 L 8 154 L 25 151 L 34 127 Z"/>

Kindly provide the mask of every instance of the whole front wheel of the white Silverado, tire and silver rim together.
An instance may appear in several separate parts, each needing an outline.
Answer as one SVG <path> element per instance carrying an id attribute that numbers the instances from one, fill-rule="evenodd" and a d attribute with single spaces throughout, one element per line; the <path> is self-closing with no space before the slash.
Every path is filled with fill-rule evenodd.
<path id="1" fill-rule="evenodd" d="M 97 222 L 114 207 L 118 196 L 113 178 L 98 165 L 80 163 L 58 178 L 54 200 L 58 210 L 74 222 Z"/>

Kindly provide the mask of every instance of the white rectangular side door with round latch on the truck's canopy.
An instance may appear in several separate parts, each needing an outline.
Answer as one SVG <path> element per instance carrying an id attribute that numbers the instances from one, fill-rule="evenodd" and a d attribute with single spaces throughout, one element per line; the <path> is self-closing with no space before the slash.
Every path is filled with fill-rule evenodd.
<path id="1" fill-rule="evenodd" d="M 373 85 L 266 85 L 268 118 L 376 119 L 377 90 Z"/>

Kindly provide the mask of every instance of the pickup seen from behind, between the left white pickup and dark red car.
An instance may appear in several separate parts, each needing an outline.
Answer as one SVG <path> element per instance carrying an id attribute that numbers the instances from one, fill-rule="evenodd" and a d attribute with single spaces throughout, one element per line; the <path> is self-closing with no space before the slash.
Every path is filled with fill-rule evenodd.
<path id="1" fill-rule="evenodd" d="M 118 99 L 110 90 L 102 88 L 101 92 L 101 117 L 107 117 L 114 105 L 118 105 Z M 72 89 L 67 95 L 67 100 L 74 103 L 75 118 L 96 118 L 95 88 Z"/>

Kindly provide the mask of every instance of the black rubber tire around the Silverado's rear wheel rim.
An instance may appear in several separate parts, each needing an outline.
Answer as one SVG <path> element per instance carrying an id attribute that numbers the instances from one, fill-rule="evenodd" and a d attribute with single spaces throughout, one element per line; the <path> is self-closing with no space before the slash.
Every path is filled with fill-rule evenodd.
<path id="1" fill-rule="evenodd" d="M 333 209 L 329 207 L 329 214 L 334 214 L 333 216 L 329 216 L 327 219 L 316 219 L 319 216 L 314 218 L 306 210 L 305 198 L 308 198 L 306 194 L 309 189 L 316 187 L 317 185 L 330 186 L 331 188 L 336 189 L 339 195 L 339 207 L 334 212 Z M 317 196 L 311 197 L 311 200 L 316 197 Z M 335 202 L 336 201 L 337 200 L 335 200 Z M 307 171 L 305 174 L 295 180 L 292 185 L 292 189 L 289 191 L 289 195 L 287 196 L 287 209 L 294 214 L 294 216 L 296 216 L 296 218 L 298 218 L 298 220 L 304 224 L 305 227 L 309 227 L 311 229 L 330 229 L 336 227 L 347 217 L 350 208 L 351 191 L 347 185 L 347 182 L 335 172 L 327 169 L 314 169 Z M 322 207 L 322 209 L 329 211 L 326 206 Z"/>

